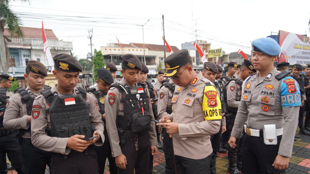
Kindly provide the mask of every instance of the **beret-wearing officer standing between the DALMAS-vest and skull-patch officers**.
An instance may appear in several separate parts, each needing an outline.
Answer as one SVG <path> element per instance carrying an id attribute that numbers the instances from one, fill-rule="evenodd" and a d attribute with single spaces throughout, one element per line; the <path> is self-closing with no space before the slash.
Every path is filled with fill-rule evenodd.
<path id="1" fill-rule="evenodd" d="M 106 130 L 105 111 L 104 111 L 104 98 L 108 95 L 108 90 L 111 84 L 114 83 L 113 77 L 108 69 L 103 67 L 97 70 L 97 86 L 87 90 L 89 94 L 95 99 L 99 112 L 104 122 L 104 143 L 102 146 L 95 146 L 95 150 L 98 156 L 99 174 L 104 173 L 105 161 L 109 160 L 109 171 L 112 174 L 117 173 L 117 167 L 115 159 L 112 157 L 110 141 L 108 139 L 108 132 Z"/>

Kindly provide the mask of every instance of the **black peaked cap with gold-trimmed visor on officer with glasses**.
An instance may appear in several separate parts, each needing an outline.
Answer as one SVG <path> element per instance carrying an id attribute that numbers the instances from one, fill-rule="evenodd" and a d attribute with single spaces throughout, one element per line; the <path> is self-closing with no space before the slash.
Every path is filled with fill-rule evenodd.
<path id="1" fill-rule="evenodd" d="M 179 50 L 170 54 L 165 60 L 165 66 L 167 71 L 164 74 L 164 77 L 172 77 L 178 73 L 181 66 L 185 65 L 191 61 L 188 50 Z"/>

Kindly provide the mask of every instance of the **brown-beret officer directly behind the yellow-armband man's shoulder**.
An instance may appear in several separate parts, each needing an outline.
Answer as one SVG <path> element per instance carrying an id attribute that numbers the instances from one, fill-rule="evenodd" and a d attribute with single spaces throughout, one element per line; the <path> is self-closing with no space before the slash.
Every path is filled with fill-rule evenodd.
<path id="1" fill-rule="evenodd" d="M 216 76 L 219 74 L 218 67 L 213 62 L 205 62 L 203 65 L 204 67 L 202 70 L 202 76 L 210 80 L 212 83 L 214 83 L 215 88 L 218 91 L 221 103 L 223 103 L 222 106 L 224 106 L 222 87 L 219 85 L 219 82 L 215 80 Z M 222 113 L 224 113 L 223 110 L 224 108 L 222 107 Z M 216 164 L 216 157 L 218 156 L 217 152 L 219 150 L 219 144 L 221 142 L 222 133 L 224 133 L 225 131 L 226 131 L 226 120 L 225 120 L 225 117 L 223 116 L 222 121 L 221 121 L 221 128 L 219 129 L 219 132 L 216 134 L 210 135 L 210 141 L 211 141 L 212 150 L 213 150 L 211 163 L 210 163 L 211 174 L 216 174 L 215 164 Z M 226 152 L 226 149 L 224 150 Z"/>

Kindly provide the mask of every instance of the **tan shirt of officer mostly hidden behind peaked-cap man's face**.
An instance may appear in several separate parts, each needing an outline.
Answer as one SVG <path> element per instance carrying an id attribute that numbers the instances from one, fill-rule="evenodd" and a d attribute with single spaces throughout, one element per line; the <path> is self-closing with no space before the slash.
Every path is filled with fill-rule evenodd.
<path id="1" fill-rule="evenodd" d="M 174 84 L 173 81 L 169 78 L 169 83 Z M 179 92 L 181 87 L 175 85 L 175 91 Z M 173 93 L 171 90 L 165 86 L 163 86 L 158 92 L 158 101 L 157 101 L 157 113 L 158 118 L 162 118 L 162 116 L 169 115 L 166 110 L 168 107 L 172 107 L 171 99 Z"/>

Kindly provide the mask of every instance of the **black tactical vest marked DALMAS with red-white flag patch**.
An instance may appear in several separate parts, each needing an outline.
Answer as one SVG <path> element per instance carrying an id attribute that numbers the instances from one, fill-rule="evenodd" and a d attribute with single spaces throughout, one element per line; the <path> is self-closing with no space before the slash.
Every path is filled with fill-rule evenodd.
<path id="1" fill-rule="evenodd" d="M 50 137 L 71 137 L 73 135 L 85 135 L 83 140 L 92 137 L 94 125 L 89 120 L 89 106 L 86 103 L 86 89 L 78 88 L 78 95 L 58 96 L 52 94 L 50 89 L 41 91 L 50 108 L 51 129 L 47 128 Z M 75 104 L 74 104 L 75 102 Z"/>

